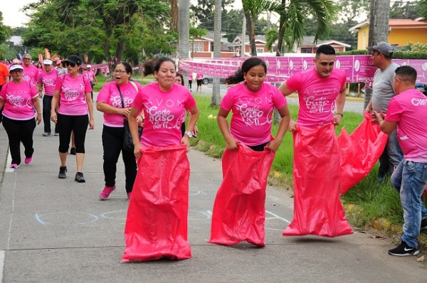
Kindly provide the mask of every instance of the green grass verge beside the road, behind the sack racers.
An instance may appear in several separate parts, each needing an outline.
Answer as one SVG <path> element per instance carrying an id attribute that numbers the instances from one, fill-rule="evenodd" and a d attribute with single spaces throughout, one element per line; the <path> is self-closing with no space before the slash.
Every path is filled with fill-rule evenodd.
<path id="1" fill-rule="evenodd" d="M 218 107 L 211 107 L 211 97 L 194 95 L 200 110 L 199 135 L 191 139 L 191 145 L 196 149 L 204 151 L 207 155 L 221 158 L 225 149 L 223 136 L 216 123 Z M 297 105 L 288 105 L 292 119 L 297 118 Z M 211 117 L 211 118 L 210 118 Z M 228 115 L 230 119 L 231 114 Z M 342 124 L 336 127 L 336 134 L 344 128 L 349 134 L 363 121 L 362 114 L 344 112 Z M 273 125 L 273 136 L 277 132 L 278 124 Z M 293 161 L 293 138 L 290 132 L 285 134 L 278 152 L 275 154 L 273 166 L 270 171 L 270 183 L 285 189 L 292 189 L 292 161 Z M 363 228 L 378 218 L 385 218 L 394 225 L 403 223 L 403 211 L 399 201 L 399 195 L 391 187 L 389 179 L 383 183 L 376 181 L 378 165 L 371 170 L 369 175 L 351 188 L 344 196 L 342 202 L 357 205 L 362 210 L 357 213 L 349 213 L 347 218 L 357 227 Z"/>

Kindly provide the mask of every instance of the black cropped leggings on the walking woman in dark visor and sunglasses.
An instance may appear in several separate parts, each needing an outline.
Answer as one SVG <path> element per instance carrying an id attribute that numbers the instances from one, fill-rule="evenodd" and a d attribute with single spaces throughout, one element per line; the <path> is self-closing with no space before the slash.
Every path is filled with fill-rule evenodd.
<path id="1" fill-rule="evenodd" d="M 88 131 L 88 114 L 71 116 L 58 113 L 59 149 L 61 153 L 68 152 L 71 132 L 74 132 L 75 152 L 85 153 L 85 138 Z"/>

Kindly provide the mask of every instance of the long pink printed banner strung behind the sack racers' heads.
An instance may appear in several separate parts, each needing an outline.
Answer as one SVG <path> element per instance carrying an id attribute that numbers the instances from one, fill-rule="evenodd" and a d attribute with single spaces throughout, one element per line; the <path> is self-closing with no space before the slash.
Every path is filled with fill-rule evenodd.
<path id="1" fill-rule="evenodd" d="M 267 64 L 266 82 L 283 82 L 293 74 L 315 67 L 313 57 L 298 54 L 292 57 L 258 58 Z M 202 73 L 212 77 L 227 78 L 233 75 L 246 58 L 197 58 L 179 60 L 179 70 L 190 73 Z M 411 65 L 418 73 L 417 82 L 427 82 L 427 60 L 394 59 L 399 65 Z M 347 82 L 366 82 L 371 87 L 376 68 L 371 65 L 369 55 L 339 55 L 335 60 L 335 68 L 344 70 Z"/>

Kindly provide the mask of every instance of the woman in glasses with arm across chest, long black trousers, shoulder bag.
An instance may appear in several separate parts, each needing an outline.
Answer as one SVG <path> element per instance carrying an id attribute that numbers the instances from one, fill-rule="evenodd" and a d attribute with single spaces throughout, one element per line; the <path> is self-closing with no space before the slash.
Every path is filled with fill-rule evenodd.
<path id="1" fill-rule="evenodd" d="M 137 161 L 133 151 L 123 147 L 125 138 L 124 120 L 129 117 L 135 97 L 141 90 L 141 85 L 131 82 L 132 66 L 122 62 L 114 70 L 112 82 L 105 84 L 97 95 L 96 108 L 104 113 L 104 127 L 102 128 L 102 147 L 104 149 L 104 177 L 105 188 L 100 193 L 100 200 L 106 200 L 115 190 L 117 160 L 122 152 L 125 164 L 125 188 L 127 198 L 130 199 L 132 188 L 137 176 Z M 137 116 L 138 124 L 142 123 L 141 115 Z"/>

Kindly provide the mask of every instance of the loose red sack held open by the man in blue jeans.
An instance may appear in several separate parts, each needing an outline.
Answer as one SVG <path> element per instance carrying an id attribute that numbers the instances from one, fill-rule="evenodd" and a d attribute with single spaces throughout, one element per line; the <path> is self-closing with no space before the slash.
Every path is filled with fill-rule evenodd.
<path id="1" fill-rule="evenodd" d="M 379 129 L 378 124 L 371 122 L 368 112 L 364 121 L 348 134 L 343 128 L 338 136 L 339 154 L 341 155 L 341 194 L 359 183 L 374 168 L 376 161 L 384 151 L 387 134 Z"/>

